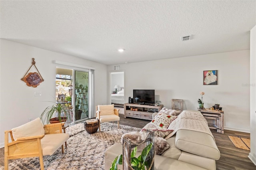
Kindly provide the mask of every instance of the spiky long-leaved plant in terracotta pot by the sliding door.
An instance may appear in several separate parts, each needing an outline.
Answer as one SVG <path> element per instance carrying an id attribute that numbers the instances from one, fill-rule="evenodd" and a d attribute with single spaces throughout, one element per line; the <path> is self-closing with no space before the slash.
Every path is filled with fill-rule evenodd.
<path id="1" fill-rule="evenodd" d="M 68 107 L 61 103 L 56 103 L 55 105 L 46 107 L 40 118 L 43 122 L 47 122 L 47 124 L 66 122 L 67 119 L 71 120 Z"/>

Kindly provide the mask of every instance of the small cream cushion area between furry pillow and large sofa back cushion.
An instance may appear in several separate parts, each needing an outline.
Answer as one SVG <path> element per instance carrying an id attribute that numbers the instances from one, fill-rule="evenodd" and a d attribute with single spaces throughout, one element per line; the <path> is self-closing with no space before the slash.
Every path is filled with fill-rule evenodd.
<path id="1" fill-rule="evenodd" d="M 168 138 L 166 141 L 170 145 L 170 148 L 165 150 L 161 154 L 161 156 L 165 156 L 165 157 L 168 157 L 168 158 L 172 158 L 172 159 L 178 160 L 178 158 L 180 157 L 180 154 L 182 153 L 182 151 L 180 149 L 178 149 L 176 147 L 176 145 L 175 145 L 175 136 L 172 136 L 171 138 Z"/>

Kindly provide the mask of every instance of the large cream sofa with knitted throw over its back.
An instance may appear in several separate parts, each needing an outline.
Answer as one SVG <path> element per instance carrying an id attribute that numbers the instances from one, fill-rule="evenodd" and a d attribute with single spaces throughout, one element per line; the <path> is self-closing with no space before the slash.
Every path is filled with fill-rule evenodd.
<path id="1" fill-rule="evenodd" d="M 199 118 L 202 115 L 198 111 L 185 110 L 178 117 L 184 118 L 180 120 L 188 121 L 186 119 L 191 119 L 191 117 L 184 117 L 187 114 Z M 179 120 L 177 119 L 176 122 Z M 200 124 L 198 121 L 195 123 Z M 204 122 L 203 116 L 202 125 L 198 125 L 198 127 L 200 126 L 205 129 L 208 128 L 207 121 Z M 155 155 L 155 170 L 216 170 L 215 160 L 220 158 L 220 151 L 211 134 L 199 131 L 200 129 L 197 130 L 196 128 L 174 130 L 175 134 L 166 138 L 170 148 L 161 155 Z M 109 170 L 112 161 L 119 154 L 122 154 L 122 144 L 114 144 L 106 150 L 105 170 Z M 141 153 L 138 152 L 138 154 Z M 122 166 L 118 166 L 119 169 L 122 169 Z"/>

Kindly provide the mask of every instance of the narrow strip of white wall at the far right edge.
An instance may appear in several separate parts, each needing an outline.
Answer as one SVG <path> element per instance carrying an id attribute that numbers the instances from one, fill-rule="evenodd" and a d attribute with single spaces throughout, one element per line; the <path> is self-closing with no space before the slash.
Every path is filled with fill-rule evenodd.
<path id="1" fill-rule="evenodd" d="M 249 158 L 256 165 L 256 26 L 250 31 L 250 139 Z"/>

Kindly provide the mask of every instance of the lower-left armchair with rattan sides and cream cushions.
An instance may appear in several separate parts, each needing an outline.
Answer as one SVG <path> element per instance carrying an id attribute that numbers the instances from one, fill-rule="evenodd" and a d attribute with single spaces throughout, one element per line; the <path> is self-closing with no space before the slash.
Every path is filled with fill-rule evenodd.
<path id="1" fill-rule="evenodd" d="M 37 119 L 34 121 L 36 120 Z M 38 124 L 40 122 L 36 123 Z M 33 125 L 37 125 L 36 123 Z M 28 132 L 24 132 L 24 137 L 18 138 L 13 135 L 15 134 L 14 129 L 6 130 L 4 132 L 4 169 L 8 170 L 8 160 L 38 156 L 40 160 L 40 168 L 41 170 L 44 170 L 43 155 L 52 155 L 60 146 L 62 147 L 62 153 L 64 153 L 63 144 L 66 140 L 68 140 L 69 134 L 62 133 L 63 124 L 64 123 L 54 123 L 49 125 L 42 125 L 42 129 L 39 131 L 43 130 L 41 132 L 44 132 L 44 134 L 30 136 L 26 135 Z M 26 126 L 24 129 L 31 128 Z M 12 142 L 9 142 L 9 134 Z"/>

